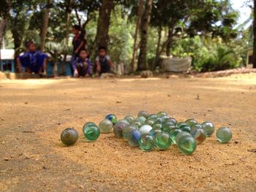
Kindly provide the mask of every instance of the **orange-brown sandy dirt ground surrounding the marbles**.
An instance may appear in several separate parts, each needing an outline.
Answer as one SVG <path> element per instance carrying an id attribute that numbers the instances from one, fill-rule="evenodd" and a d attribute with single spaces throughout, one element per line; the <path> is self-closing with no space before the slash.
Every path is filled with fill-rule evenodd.
<path id="1" fill-rule="evenodd" d="M 193 155 L 143 152 L 113 134 L 86 142 L 82 126 L 140 110 L 229 126 Z M 0 191 L 256 191 L 256 74 L 220 78 L 0 81 Z M 64 128 L 80 134 L 61 145 Z"/>

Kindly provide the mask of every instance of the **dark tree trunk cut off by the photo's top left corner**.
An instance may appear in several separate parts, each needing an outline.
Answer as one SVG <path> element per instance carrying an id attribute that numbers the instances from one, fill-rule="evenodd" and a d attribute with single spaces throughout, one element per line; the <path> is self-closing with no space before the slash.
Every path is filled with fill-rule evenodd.
<path id="1" fill-rule="evenodd" d="M 5 29 L 7 26 L 7 16 L 10 11 L 12 1 L 11 0 L 5 0 L 1 2 L 1 8 L 0 8 L 0 48 L 1 48 L 1 42 L 4 38 Z"/>

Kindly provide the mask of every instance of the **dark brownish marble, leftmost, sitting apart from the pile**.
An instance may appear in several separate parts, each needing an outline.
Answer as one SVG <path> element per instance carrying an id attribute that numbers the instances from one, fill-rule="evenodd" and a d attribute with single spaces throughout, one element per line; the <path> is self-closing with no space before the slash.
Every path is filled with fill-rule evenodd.
<path id="1" fill-rule="evenodd" d="M 78 131 L 74 128 L 66 128 L 61 132 L 61 142 L 64 145 L 74 145 L 78 141 Z"/>

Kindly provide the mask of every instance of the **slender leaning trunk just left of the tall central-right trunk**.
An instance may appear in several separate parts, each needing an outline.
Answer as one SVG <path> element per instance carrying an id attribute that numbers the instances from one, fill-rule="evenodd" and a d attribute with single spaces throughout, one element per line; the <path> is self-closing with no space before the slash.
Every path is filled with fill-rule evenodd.
<path id="1" fill-rule="evenodd" d="M 136 55 L 137 55 L 137 50 L 138 50 L 138 33 L 140 29 L 140 23 L 141 23 L 141 15 L 143 12 L 143 0 L 140 0 L 138 4 L 138 15 L 137 15 L 137 23 L 136 23 L 136 28 L 135 28 L 135 42 L 133 45 L 133 53 L 132 53 L 132 72 L 135 71 L 135 60 L 136 60 Z"/>

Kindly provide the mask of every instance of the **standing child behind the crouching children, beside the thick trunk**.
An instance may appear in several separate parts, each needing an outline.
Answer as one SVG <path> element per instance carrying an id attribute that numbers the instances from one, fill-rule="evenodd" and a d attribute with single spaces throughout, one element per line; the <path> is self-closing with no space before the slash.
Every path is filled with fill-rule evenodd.
<path id="1" fill-rule="evenodd" d="M 73 53 L 72 53 L 72 61 L 75 61 L 76 58 L 79 57 L 80 50 L 86 49 L 86 39 L 84 30 L 81 30 L 80 26 L 75 25 L 72 26 L 72 33 L 75 35 L 72 45 L 73 45 Z M 71 66 L 71 72 L 72 66 Z"/>

